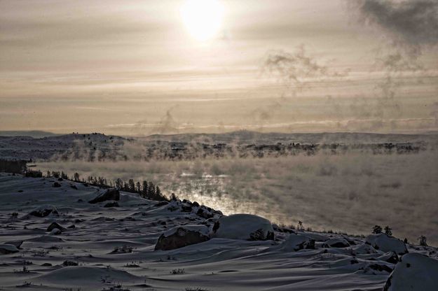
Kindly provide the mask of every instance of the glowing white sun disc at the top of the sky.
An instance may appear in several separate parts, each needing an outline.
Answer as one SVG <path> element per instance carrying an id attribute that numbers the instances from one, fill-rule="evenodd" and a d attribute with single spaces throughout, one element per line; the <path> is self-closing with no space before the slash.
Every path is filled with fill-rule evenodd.
<path id="1" fill-rule="evenodd" d="M 221 28 L 224 6 L 218 0 L 186 0 L 180 13 L 189 34 L 198 41 L 207 41 Z"/>

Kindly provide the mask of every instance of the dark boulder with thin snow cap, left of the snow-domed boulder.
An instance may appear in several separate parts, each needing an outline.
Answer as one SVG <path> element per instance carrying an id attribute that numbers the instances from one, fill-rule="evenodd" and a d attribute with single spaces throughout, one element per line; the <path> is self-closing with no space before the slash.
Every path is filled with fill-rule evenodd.
<path id="1" fill-rule="evenodd" d="M 156 243 L 156 250 L 173 250 L 184 246 L 208 241 L 208 227 L 205 225 L 181 225 L 161 234 Z"/>

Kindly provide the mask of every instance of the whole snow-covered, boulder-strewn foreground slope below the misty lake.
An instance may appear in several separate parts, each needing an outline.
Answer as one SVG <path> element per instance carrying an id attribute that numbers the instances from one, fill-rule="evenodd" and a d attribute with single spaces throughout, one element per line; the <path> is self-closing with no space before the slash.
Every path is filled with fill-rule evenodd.
<path id="1" fill-rule="evenodd" d="M 54 182 L 0 174 L 0 290 L 438 290 L 436 248 L 275 225 L 272 240 L 261 218 L 125 192 L 104 207 L 88 201 L 106 190 Z"/>

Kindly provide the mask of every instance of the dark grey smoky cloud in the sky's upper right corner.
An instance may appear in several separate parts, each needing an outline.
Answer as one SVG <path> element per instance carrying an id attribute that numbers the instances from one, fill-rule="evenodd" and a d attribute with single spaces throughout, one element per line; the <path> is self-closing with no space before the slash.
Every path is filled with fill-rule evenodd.
<path id="1" fill-rule="evenodd" d="M 414 52 L 438 43 L 437 0 L 360 0 L 352 5 L 366 22 Z"/>

